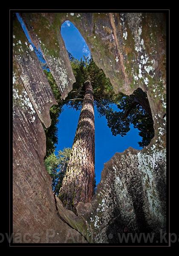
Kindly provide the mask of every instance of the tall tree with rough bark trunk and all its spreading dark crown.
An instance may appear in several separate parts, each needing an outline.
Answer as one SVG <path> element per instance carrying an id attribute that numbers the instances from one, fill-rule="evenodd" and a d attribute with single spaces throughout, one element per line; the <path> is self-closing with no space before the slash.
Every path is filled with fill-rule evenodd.
<path id="1" fill-rule="evenodd" d="M 139 142 L 139 145 L 145 146 L 154 136 L 154 130 L 146 93 L 138 89 L 130 96 L 122 93 L 115 94 L 110 79 L 105 76 L 103 70 L 95 65 L 92 57 L 90 59 L 84 57 L 84 61 L 82 59 L 79 61 L 69 53 L 69 58 L 76 82 L 65 100 L 58 95 L 59 92 L 52 74 L 47 70 L 45 73 L 61 110 L 64 104 L 79 110 L 83 102 L 72 153 L 59 193 L 64 206 L 75 212 L 78 202 L 90 201 L 95 191 L 93 102 L 98 113 L 106 117 L 107 124 L 114 136 L 126 135 L 130 130 L 130 124 L 133 123 L 134 127 L 139 129 L 139 135 L 142 137 L 142 142 Z M 91 79 L 87 79 L 89 76 Z M 113 104 L 118 107 L 119 111 L 113 110 Z M 51 126 L 55 133 L 46 131 L 47 148 L 51 150 L 49 154 L 54 152 L 54 144 L 57 143 L 56 124 L 59 106 L 55 109 L 55 113 L 52 111 L 52 124 L 54 125 Z"/>

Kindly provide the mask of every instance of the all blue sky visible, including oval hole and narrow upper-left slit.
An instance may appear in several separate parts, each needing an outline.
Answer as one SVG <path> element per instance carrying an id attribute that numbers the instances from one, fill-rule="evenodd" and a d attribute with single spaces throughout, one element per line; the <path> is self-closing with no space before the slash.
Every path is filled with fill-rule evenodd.
<path id="1" fill-rule="evenodd" d="M 17 18 L 21 23 L 27 39 L 32 44 L 26 27 L 18 14 Z M 61 35 L 64 39 L 66 49 L 71 52 L 75 58 L 80 60 L 80 58 L 83 58 L 83 55 L 86 57 L 90 56 L 90 50 L 84 38 L 71 22 L 66 21 L 62 24 Z M 113 109 L 118 111 L 118 108 L 114 104 Z M 64 106 L 64 111 L 59 116 L 56 152 L 67 147 L 72 147 L 79 116 L 80 111 L 75 111 L 68 108 L 66 105 Z M 120 135 L 113 136 L 110 128 L 107 126 L 107 120 L 104 116 L 98 116 L 98 111 L 95 107 L 95 174 L 97 184 L 101 180 L 101 171 L 104 167 L 104 163 L 110 160 L 116 152 L 123 152 L 128 147 L 141 149 L 138 144 L 138 142 L 141 141 L 138 129 L 133 128 L 133 125 L 131 125 L 130 128 L 130 131 L 124 137 Z"/>

